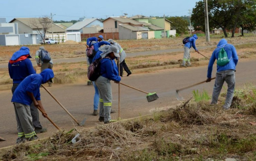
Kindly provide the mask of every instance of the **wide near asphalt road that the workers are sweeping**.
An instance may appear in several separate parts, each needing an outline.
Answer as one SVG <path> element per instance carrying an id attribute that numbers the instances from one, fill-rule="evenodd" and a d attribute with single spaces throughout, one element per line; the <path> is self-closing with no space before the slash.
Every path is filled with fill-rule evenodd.
<path id="1" fill-rule="evenodd" d="M 236 85 L 254 83 L 256 80 L 256 60 L 239 62 L 237 66 Z M 216 66 L 214 66 L 214 69 Z M 215 73 L 216 70 L 213 71 Z M 150 110 L 176 105 L 175 90 L 206 79 L 207 67 L 172 68 L 153 73 L 132 74 L 124 76 L 123 83 L 132 85 L 147 92 L 157 92 L 158 100 L 147 102 L 144 93 L 132 90 L 121 85 L 121 118 L 132 118 L 144 114 L 150 114 Z M 179 92 L 185 99 L 192 96 L 192 90 L 207 90 L 211 95 L 214 81 L 203 83 L 194 88 Z M 52 94 L 74 115 L 79 121 L 87 118 L 85 128 L 94 127 L 98 122 L 98 116 L 92 116 L 94 87 L 86 83 L 53 85 L 48 88 Z M 112 83 L 113 104 L 112 108 L 118 106 L 118 85 Z M 11 90 L 0 91 L 0 136 L 6 141 L 0 141 L 0 147 L 15 144 L 17 137 L 16 120 L 11 100 Z M 41 88 L 41 99 L 48 116 L 61 128 L 70 130 L 74 128 L 74 121 L 64 110 Z M 112 119 L 118 118 L 118 113 L 112 114 Z M 56 131 L 51 123 L 40 115 L 41 124 L 48 132 L 39 134 L 39 138 L 52 135 Z"/>

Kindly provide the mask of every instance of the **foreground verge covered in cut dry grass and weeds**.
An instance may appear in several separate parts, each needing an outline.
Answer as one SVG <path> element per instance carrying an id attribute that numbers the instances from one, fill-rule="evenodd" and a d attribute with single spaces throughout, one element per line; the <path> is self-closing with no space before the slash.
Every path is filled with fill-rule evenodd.
<path id="1" fill-rule="evenodd" d="M 22 143 L 2 150 L 0 160 L 256 160 L 255 87 L 236 90 L 235 103 L 226 111 L 225 93 L 217 105 L 209 105 L 203 93 L 194 92 L 197 102 L 190 98 L 151 117 Z"/>

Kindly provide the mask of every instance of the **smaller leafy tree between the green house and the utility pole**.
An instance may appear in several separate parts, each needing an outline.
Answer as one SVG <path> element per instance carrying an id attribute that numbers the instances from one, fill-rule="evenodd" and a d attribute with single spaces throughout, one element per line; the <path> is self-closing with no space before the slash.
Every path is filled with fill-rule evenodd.
<path id="1" fill-rule="evenodd" d="M 189 23 L 187 20 L 184 20 L 182 17 L 168 17 L 167 20 L 172 22 L 172 28 L 176 29 L 178 34 L 187 34 Z"/>

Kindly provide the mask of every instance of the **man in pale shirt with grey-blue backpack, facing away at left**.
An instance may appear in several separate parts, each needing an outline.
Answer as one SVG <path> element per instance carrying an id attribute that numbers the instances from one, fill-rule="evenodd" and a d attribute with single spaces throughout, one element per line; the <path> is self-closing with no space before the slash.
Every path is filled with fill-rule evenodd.
<path id="1" fill-rule="evenodd" d="M 36 51 L 35 55 L 37 66 L 41 67 L 41 72 L 44 69 L 52 69 L 53 61 L 51 59 L 50 53 L 47 52 L 44 47 L 39 47 L 39 50 Z M 48 83 L 49 87 L 51 87 L 51 82 Z"/>

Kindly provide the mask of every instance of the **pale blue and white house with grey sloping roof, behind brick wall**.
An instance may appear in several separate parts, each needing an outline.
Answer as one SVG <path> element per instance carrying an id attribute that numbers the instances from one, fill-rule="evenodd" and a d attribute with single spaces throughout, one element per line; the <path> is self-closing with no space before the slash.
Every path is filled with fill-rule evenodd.
<path id="1" fill-rule="evenodd" d="M 99 33 L 103 30 L 103 23 L 98 18 L 80 18 L 77 23 L 67 28 L 68 32 L 80 32 L 82 34 Z"/>

